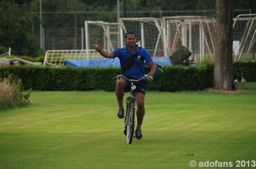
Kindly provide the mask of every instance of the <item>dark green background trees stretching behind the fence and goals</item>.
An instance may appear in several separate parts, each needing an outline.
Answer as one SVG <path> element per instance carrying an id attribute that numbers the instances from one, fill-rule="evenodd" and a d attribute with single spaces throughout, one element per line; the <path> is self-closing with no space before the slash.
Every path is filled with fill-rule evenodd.
<path id="1" fill-rule="evenodd" d="M 255 0 L 232 0 L 232 3 L 233 18 L 239 14 L 255 13 Z M 119 5 L 120 17 L 124 17 L 124 0 L 120 0 Z M 215 17 L 215 6 L 215 0 L 125 0 L 125 17 L 161 18 L 194 14 Z M 44 28 L 73 29 L 75 23 L 81 28 L 85 20 L 117 22 L 117 0 L 42 0 L 42 11 Z M 7 52 L 8 47 L 16 55 L 36 57 L 43 54 L 36 40 L 39 24 L 39 0 L 0 0 L 0 54 Z M 63 32 L 65 34 L 68 33 Z"/>

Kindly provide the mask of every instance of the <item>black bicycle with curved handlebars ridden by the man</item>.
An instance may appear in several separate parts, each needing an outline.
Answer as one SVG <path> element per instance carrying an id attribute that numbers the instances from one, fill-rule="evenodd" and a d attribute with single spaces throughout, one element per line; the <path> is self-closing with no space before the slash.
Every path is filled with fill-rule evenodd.
<path id="1" fill-rule="evenodd" d="M 134 89 L 136 88 L 136 86 L 133 84 L 133 82 L 140 81 L 142 79 L 146 79 L 148 81 L 148 75 L 145 75 L 144 77 L 138 80 L 127 79 L 124 75 L 117 75 L 113 79 L 116 79 L 116 81 L 118 81 L 121 77 L 123 77 L 128 81 L 131 81 L 132 83 L 130 96 L 126 97 L 126 113 L 124 116 L 124 129 L 126 130 L 127 144 L 132 144 L 132 138 L 134 138 L 134 128 L 135 128 L 134 117 L 135 117 L 135 109 L 136 109 L 135 107 L 136 98 L 134 95 Z"/>

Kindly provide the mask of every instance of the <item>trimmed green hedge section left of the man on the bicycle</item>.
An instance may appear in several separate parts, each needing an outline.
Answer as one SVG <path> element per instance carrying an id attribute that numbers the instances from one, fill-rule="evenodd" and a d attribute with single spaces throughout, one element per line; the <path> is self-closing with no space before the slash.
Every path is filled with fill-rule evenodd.
<path id="1" fill-rule="evenodd" d="M 115 89 L 113 77 L 119 74 L 118 67 L 42 67 L 2 66 L 4 72 L 13 73 L 22 79 L 24 89 L 33 90 L 106 90 Z M 113 74 L 113 75 L 112 75 Z"/>

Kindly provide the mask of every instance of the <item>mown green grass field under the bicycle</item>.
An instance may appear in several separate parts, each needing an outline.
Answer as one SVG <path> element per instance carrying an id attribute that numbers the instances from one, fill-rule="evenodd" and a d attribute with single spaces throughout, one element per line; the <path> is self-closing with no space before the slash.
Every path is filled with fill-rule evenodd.
<path id="1" fill-rule="evenodd" d="M 143 139 L 132 144 L 114 92 L 32 91 L 30 105 L 0 112 L 0 168 L 255 168 L 256 83 L 236 87 L 148 91 Z"/>

